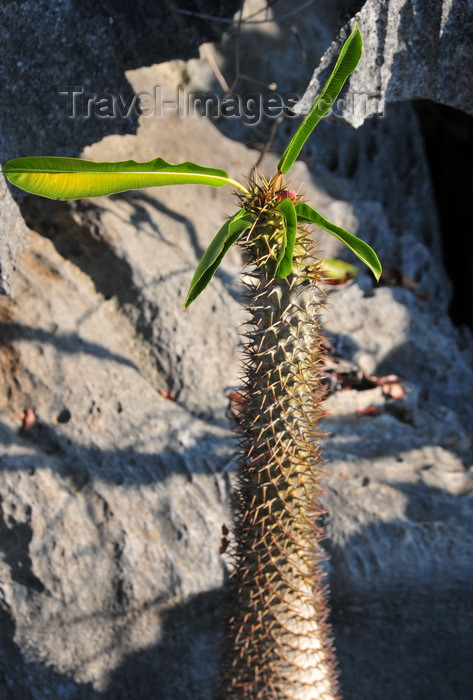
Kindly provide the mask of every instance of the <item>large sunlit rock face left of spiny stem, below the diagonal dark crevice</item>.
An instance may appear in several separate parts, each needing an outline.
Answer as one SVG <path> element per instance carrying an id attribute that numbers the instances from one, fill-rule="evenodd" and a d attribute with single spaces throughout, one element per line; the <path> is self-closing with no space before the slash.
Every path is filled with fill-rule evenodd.
<path id="1" fill-rule="evenodd" d="M 215 628 L 233 436 L 160 395 L 116 298 L 51 241 L 32 234 L 16 288 L 1 305 L 2 697 L 23 681 L 25 698 L 127 697 L 143 656 L 130 697 L 207 697 L 218 627 L 196 629 L 184 679 L 169 660 L 189 623 Z"/>

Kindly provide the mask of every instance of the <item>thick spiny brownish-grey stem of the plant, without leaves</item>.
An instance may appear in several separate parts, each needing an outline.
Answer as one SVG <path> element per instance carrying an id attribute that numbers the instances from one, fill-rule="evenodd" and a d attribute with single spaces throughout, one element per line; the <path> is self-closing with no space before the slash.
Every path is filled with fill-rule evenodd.
<path id="1" fill-rule="evenodd" d="M 334 700 L 317 504 L 322 474 L 317 426 L 323 415 L 319 266 L 309 260 L 310 243 L 301 231 L 298 273 L 274 279 L 270 238 L 262 217 L 242 243 L 253 263 L 251 330 L 219 698 Z"/>

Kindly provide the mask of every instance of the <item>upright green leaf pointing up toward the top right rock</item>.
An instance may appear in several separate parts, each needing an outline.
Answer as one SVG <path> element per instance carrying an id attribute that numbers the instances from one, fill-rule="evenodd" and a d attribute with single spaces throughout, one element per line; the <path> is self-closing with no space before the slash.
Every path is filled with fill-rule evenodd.
<path id="1" fill-rule="evenodd" d="M 296 133 L 288 143 L 281 160 L 278 163 L 278 171 L 287 173 L 302 150 L 313 129 L 322 117 L 327 114 L 337 99 L 340 90 L 347 78 L 358 65 L 363 50 L 363 39 L 358 25 L 342 46 L 335 67 L 330 78 L 325 83 L 322 92 L 316 98 L 308 114 L 300 124 Z"/>

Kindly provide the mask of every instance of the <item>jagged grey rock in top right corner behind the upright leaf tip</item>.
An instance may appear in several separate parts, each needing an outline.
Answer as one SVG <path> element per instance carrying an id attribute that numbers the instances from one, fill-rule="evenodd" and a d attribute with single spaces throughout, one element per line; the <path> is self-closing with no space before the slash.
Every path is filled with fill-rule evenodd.
<path id="1" fill-rule="evenodd" d="M 342 110 L 348 123 L 360 126 L 367 117 L 382 114 L 385 102 L 413 99 L 433 100 L 473 114 L 471 3 L 366 0 L 354 5 L 359 9 L 355 19 L 363 33 L 364 50 L 345 94 L 352 106 Z M 347 31 L 347 27 L 342 30 L 315 70 L 301 110 L 312 103 L 326 79 Z"/>

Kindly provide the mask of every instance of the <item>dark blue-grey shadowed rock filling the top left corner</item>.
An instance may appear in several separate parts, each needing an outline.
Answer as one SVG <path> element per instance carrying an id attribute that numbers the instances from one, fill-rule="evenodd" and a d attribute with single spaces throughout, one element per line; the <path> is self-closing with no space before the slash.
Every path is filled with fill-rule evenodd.
<path id="1" fill-rule="evenodd" d="M 191 12 L 229 17 L 239 3 L 191 0 L 183 5 Z M 105 93 L 126 101 L 132 89 L 125 70 L 196 55 L 199 44 L 215 39 L 223 26 L 182 14 L 170 0 L 137 0 L 132 10 L 127 2 L 110 1 L 1 3 L 0 163 L 29 155 L 77 156 L 105 134 L 135 132 L 137 109 L 126 117 L 90 118 L 86 107 L 78 107 L 73 118 L 67 116 L 68 98 L 61 89 L 76 86 L 84 100 Z M 74 100 L 78 105 L 79 97 Z M 15 195 L 22 197 L 19 190 Z M 0 196 L 0 294 L 11 294 L 9 276 L 21 250 L 23 222 L 5 184 Z"/>

